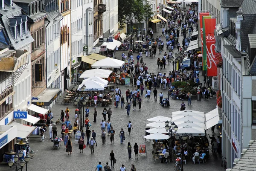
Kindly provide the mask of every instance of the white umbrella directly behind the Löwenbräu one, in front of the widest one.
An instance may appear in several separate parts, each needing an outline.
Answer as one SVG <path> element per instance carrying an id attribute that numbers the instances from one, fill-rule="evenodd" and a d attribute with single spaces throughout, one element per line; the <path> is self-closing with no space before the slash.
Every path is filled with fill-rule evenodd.
<path id="1" fill-rule="evenodd" d="M 108 78 L 112 72 L 113 71 L 111 70 L 103 70 L 103 69 L 96 68 L 93 70 L 84 71 L 84 73 L 82 73 L 79 78 L 90 78 L 93 76 L 97 76 L 99 78 Z"/>

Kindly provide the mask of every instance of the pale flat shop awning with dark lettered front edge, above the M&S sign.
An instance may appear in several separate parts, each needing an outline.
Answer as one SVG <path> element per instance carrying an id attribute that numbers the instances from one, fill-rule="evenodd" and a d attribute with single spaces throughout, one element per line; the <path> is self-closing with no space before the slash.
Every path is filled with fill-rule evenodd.
<path id="1" fill-rule="evenodd" d="M 46 89 L 38 96 L 38 100 L 32 100 L 32 104 L 37 106 L 49 106 L 60 94 L 61 89 Z"/>

